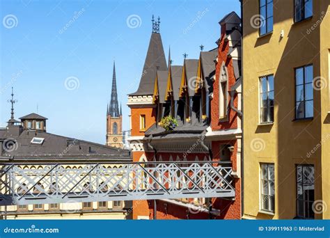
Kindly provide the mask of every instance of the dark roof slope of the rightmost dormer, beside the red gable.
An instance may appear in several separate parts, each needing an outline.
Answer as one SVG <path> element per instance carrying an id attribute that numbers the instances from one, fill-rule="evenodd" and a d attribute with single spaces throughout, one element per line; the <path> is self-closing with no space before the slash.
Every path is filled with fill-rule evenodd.
<path id="1" fill-rule="evenodd" d="M 202 51 L 201 52 L 201 63 L 204 75 L 204 82 L 207 92 L 212 91 L 213 77 L 215 75 L 215 63 L 217 59 L 218 49 L 213 49 L 212 51 Z"/>

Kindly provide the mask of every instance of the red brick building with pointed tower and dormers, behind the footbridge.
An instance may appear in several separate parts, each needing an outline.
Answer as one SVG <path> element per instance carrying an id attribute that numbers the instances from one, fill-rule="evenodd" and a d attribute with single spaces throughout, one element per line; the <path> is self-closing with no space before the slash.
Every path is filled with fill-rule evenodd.
<path id="1" fill-rule="evenodd" d="M 136 200 L 133 219 L 240 219 L 240 19 L 223 17 L 217 48 L 182 65 L 171 65 L 171 56 L 166 64 L 159 22 L 153 24 L 139 88 L 128 100 L 133 160 L 227 161 L 235 197 Z M 177 125 L 166 130 L 168 117 Z"/>

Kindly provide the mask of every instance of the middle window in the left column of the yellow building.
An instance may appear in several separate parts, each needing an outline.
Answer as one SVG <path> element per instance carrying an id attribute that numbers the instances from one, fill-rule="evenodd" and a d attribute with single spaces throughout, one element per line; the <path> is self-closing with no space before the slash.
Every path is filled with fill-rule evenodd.
<path id="1" fill-rule="evenodd" d="M 260 122 L 274 122 L 274 75 L 260 78 Z"/>

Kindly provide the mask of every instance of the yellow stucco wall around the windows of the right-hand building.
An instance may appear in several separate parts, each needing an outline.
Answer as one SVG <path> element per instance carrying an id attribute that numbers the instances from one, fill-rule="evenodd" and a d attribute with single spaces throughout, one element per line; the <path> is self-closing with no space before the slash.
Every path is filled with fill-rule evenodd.
<path id="1" fill-rule="evenodd" d="M 244 219 L 297 217 L 297 166 L 314 166 L 315 219 L 330 219 L 330 8 L 294 22 L 294 1 L 274 1 L 273 31 L 260 36 L 259 1 L 243 0 Z M 313 118 L 296 120 L 295 69 L 313 65 Z M 274 122 L 260 122 L 260 77 L 274 75 Z M 317 88 L 318 87 L 318 88 Z M 313 151 L 313 152 L 312 152 Z M 274 211 L 261 207 L 260 163 L 274 164 Z M 320 205 L 319 203 L 319 205 Z M 317 205 L 318 206 L 318 205 Z M 320 207 L 318 207 L 320 208 Z"/>

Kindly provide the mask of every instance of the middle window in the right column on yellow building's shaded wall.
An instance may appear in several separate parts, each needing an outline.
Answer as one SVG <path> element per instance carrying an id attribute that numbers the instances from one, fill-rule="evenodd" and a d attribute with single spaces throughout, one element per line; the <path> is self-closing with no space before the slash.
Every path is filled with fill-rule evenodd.
<path id="1" fill-rule="evenodd" d="M 296 119 L 313 118 L 313 65 L 295 70 Z"/>

